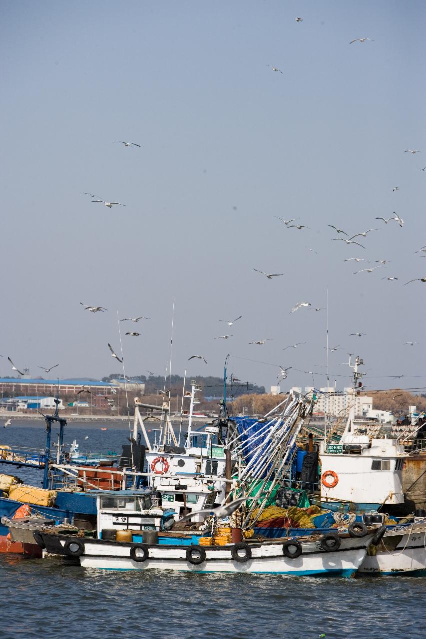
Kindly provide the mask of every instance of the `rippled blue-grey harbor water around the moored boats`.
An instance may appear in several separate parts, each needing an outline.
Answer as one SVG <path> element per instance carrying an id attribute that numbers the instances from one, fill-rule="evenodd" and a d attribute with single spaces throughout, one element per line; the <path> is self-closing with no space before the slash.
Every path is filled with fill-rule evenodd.
<path id="1" fill-rule="evenodd" d="M 107 427 L 101 431 L 100 427 Z M 15 422 L 0 444 L 42 447 L 42 422 Z M 85 437 L 88 439 L 84 439 Z M 72 424 L 82 452 L 120 452 L 125 427 Z M 52 442 L 54 437 L 52 436 Z M 38 485 L 41 473 L 0 465 Z M 83 569 L 74 560 L 0 555 L 0 637 L 77 639 L 388 639 L 425 636 L 426 577 L 294 578 Z"/>

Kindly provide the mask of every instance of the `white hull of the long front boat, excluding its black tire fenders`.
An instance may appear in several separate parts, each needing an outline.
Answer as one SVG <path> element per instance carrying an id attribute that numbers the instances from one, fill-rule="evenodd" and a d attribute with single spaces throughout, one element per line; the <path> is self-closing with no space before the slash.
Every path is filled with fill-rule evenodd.
<path id="1" fill-rule="evenodd" d="M 136 561 L 130 556 L 135 544 L 108 542 L 82 537 L 68 537 L 41 533 L 46 550 L 56 554 L 66 554 L 65 544 L 73 541 L 83 546 L 79 556 L 80 565 L 86 568 L 110 570 L 173 570 L 188 573 L 262 573 L 297 575 L 352 576 L 361 565 L 373 535 L 362 539 L 342 538 L 338 551 L 325 551 L 320 540 L 303 540 L 303 552 L 297 558 L 283 555 L 283 543 L 287 539 L 274 542 L 249 543 L 251 558 L 243 562 L 232 557 L 233 545 L 202 546 L 205 560 L 194 565 L 187 559 L 188 547 L 147 545 L 148 558 Z M 191 548 L 191 546 L 189 547 Z M 192 548 L 200 548 L 193 546 Z M 69 555 L 68 555 L 69 556 Z"/>

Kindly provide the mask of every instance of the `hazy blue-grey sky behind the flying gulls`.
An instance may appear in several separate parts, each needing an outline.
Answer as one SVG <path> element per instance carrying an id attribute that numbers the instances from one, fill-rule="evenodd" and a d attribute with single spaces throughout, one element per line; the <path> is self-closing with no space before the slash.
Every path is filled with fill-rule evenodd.
<path id="1" fill-rule="evenodd" d="M 426 284 L 404 286 L 426 277 L 424 3 L 2 0 L 0 17 L 0 376 L 8 356 L 122 372 L 108 343 L 127 375 L 164 374 L 174 298 L 173 374 L 221 376 L 230 354 L 241 380 L 269 388 L 281 365 L 282 390 L 325 386 L 328 318 L 331 384 L 351 352 L 367 390 L 426 387 Z M 402 228 L 375 219 L 394 211 Z M 378 230 L 363 249 L 327 224 Z"/>

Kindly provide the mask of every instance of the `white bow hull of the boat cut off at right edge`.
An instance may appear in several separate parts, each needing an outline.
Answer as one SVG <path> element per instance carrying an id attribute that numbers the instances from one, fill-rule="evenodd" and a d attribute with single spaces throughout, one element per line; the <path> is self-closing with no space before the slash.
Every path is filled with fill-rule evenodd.
<path id="1" fill-rule="evenodd" d="M 360 574 L 420 573 L 426 571 L 426 521 L 388 530 L 377 546 L 370 546 Z"/>

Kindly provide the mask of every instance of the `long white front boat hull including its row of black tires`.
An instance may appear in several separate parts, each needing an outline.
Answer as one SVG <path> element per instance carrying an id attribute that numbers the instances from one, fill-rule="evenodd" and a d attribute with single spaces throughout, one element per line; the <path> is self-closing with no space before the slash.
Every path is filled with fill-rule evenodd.
<path id="1" fill-rule="evenodd" d="M 47 551 L 76 558 L 84 568 L 350 577 L 365 558 L 374 532 L 361 539 L 336 534 L 326 537 L 184 546 L 182 543 L 126 543 L 38 533 L 38 541 Z M 175 541 L 172 536 L 171 541 Z"/>

